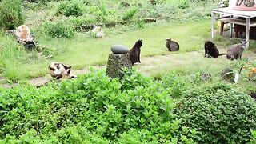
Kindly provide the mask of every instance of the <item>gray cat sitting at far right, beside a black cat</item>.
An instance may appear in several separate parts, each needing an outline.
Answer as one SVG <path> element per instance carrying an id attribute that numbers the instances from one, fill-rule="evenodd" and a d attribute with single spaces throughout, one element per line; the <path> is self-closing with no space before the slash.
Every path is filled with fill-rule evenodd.
<path id="1" fill-rule="evenodd" d="M 243 50 L 246 49 L 246 43 L 247 42 L 242 42 L 239 44 L 234 44 L 230 46 L 230 48 L 226 52 L 226 58 L 230 60 L 238 59 L 242 57 L 242 52 Z"/>

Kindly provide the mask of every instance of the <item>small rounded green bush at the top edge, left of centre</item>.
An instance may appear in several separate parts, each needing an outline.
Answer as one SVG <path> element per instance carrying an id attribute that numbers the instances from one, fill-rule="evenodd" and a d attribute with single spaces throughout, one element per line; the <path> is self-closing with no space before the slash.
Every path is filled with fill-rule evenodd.
<path id="1" fill-rule="evenodd" d="M 66 1 L 62 2 L 58 6 L 57 14 L 63 14 L 66 17 L 70 17 L 72 15 L 78 17 L 82 15 L 83 12 L 83 3 L 79 1 Z"/>

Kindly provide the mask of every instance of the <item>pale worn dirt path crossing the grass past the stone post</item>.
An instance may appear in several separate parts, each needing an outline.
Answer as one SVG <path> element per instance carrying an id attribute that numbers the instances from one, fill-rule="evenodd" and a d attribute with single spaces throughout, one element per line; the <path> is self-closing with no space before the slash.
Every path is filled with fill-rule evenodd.
<path id="1" fill-rule="evenodd" d="M 225 53 L 226 49 L 220 49 L 220 53 Z M 226 59 L 226 56 L 221 56 L 219 58 L 204 58 L 203 57 L 204 51 L 191 51 L 185 53 L 171 53 L 167 55 L 158 55 L 153 57 L 142 57 L 141 62 L 139 64 L 135 64 L 134 68 L 138 70 L 140 73 L 144 75 L 150 74 L 161 74 L 164 72 L 168 72 L 170 70 L 182 70 L 182 69 L 190 69 L 191 66 L 195 68 L 206 67 L 210 65 L 212 69 L 218 67 L 219 65 L 225 64 L 230 62 Z M 245 53 L 244 57 L 255 59 L 256 54 L 252 53 Z M 209 62 L 211 62 L 209 64 Z M 106 69 L 106 65 L 103 66 L 92 66 L 96 69 Z M 209 70 L 209 68 L 207 69 Z M 89 71 L 89 67 L 86 67 L 82 70 L 72 70 L 72 74 L 79 75 L 79 74 L 86 74 Z M 4 78 L 0 78 L 0 81 L 4 81 Z M 52 78 L 50 74 L 47 74 L 44 77 L 32 78 L 27 82 L 30 83 L 32 86 L 42 86 L 47 82 L 50 82 Z M 15 84 L 0 84 L 0 87 L 11 87 L 15 86 Z"/>

